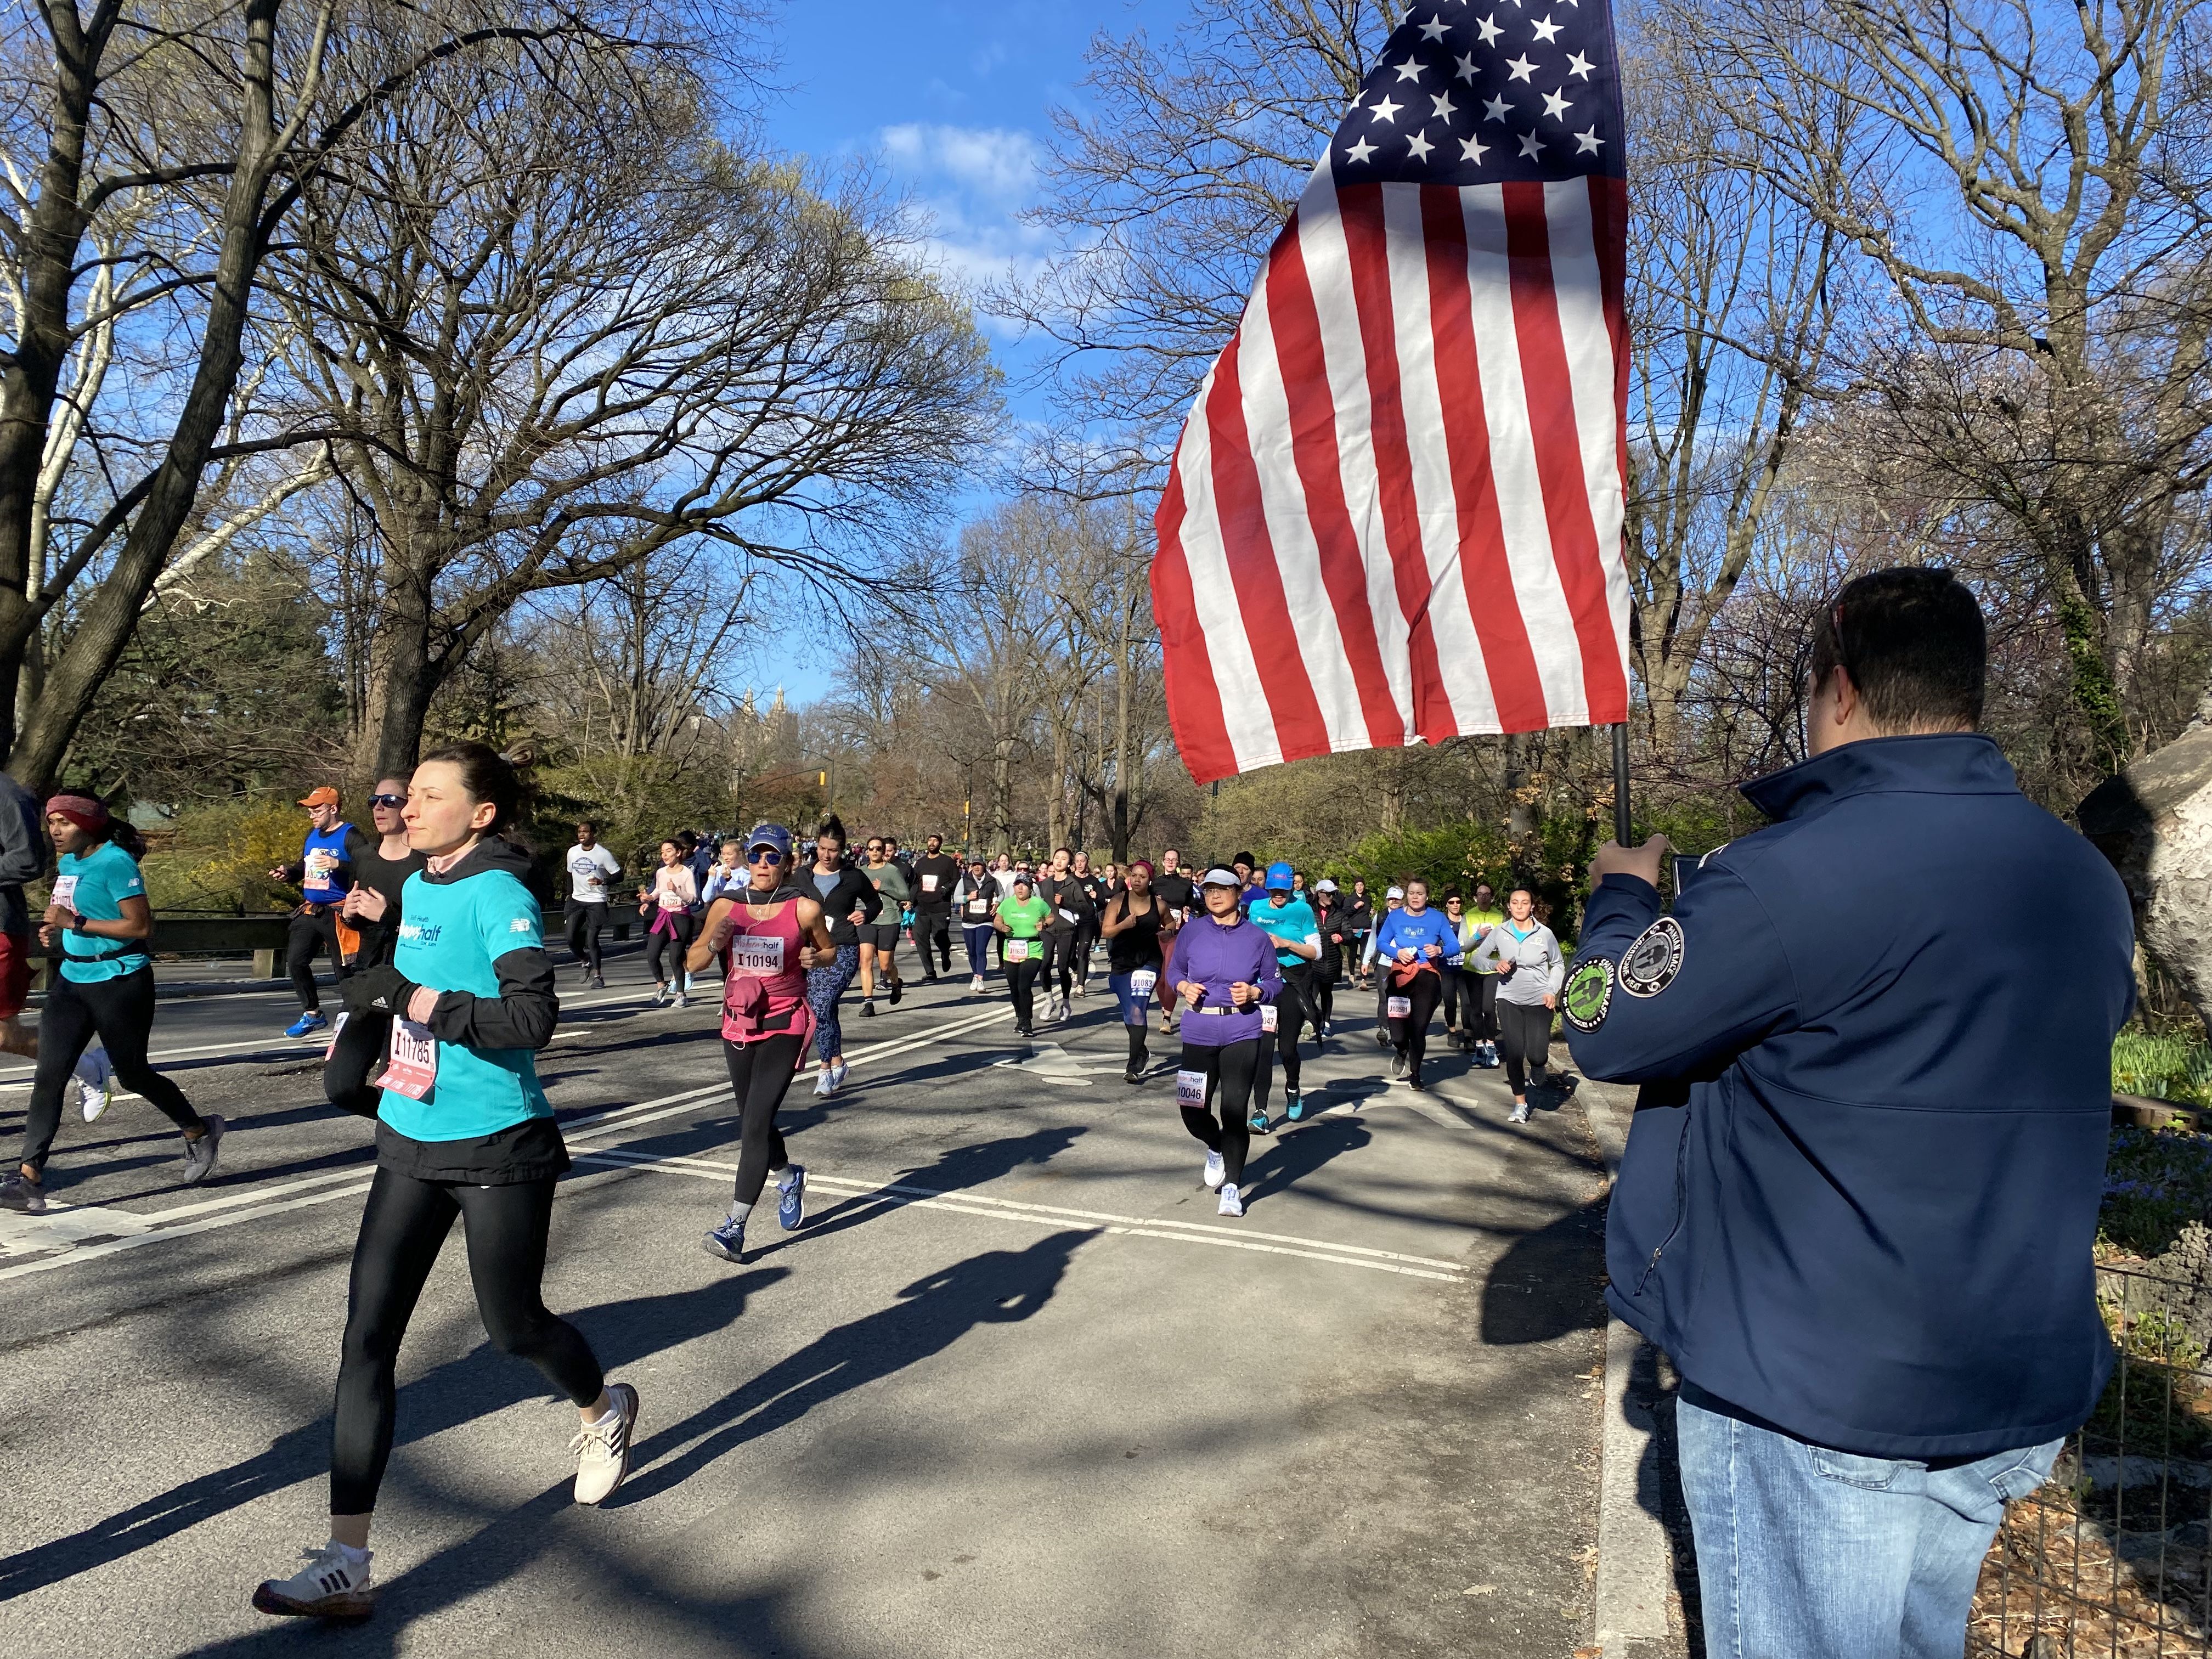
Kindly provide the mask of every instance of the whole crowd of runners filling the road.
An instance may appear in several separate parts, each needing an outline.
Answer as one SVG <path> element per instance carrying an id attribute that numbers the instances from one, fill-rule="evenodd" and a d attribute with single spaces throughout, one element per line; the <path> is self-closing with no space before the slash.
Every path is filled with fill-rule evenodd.
<path id="1" fill-rule="evenodd" d="M 115 1084 L 142 1095 L 181 1133 L 184 1181 L 204 1181 L 223 1119 L 197 1113 L 146 1060 L 153 911 L 135 834 L 91 796 L 58 794 L 40 807 L 0 783 L 0 1048 L 35 1060 L 22 1157 L 0 1179 L 0 1208 L 44 1210 L 71 1084 L 86 1121 L 108 1108 Z M 964 978 L 962 1000 L 1004 995 L 1024 1040 L 1073 1020 L 1091 995 L 1110 998 L 1128 1037 L 1126 1082 L 1172 1086 L 1223 1217 L 1245 1212 L 1245 1157 L 1252 1137 L 1276 1126 L 1276 1084 L 1281 1119 L 1298 1124 L 1310 1110 L 1303 1062 L 1365 1042 L 1338 1037 L 1340 991 L 1374 995 L 1371 1040 L 1387 1051 L 1374 1064 L 1409 1091 L 1427 1086 L 1438 1015 L 1444 1042 L 1473 1066 L 1504 1066 L 1509 1121 L 1528 1119 L 1531 1086 L 1564 1093 L 1575 1082 L 1548 1073 L 1566 964 L 1524 889 L 1502 907 L 1486 885 L 1436 896 L 1420 878 L 1378 896 L 1365 880 L 1307 880 L 1250 852 L 1186 863 L 1166 849 L 1157 865 L 1093 865 L 1066 847 L 1037 863 L 953 854 L 940 836 L 916 852 L 891 836 L 856 847 L 836 816 L 807 838 L 779 823 L 672 834 L 626 878 L 584 821 L 560 872 L 562 962 L 526 885 L 531 854 L 507 834 L 520 794 L 513 768 L 480 743 L 380 779 L 367 830 L 345 821 L 336 790 L 319 787 L 301 801 L 301 856 L 270 872 L 301 894 L 285 951 L 299 1018 L 285 1035 L 323 1042 L 327 1099 L 374 1119 L 376 1177 L 338 1354 L 330 1537 L 305 1551 L 299 1573 L 254 1590 L 265 1613 L 372 1610 L 369 1520 L 394 1438 L 394 1367 L 456 1219 L 493 1343 L 533 1360 L 577 1407 L 575 1500 L 597 1504 L 626 1475 L 637 1389 L 608 1380 L 540 1296 L 568 1152 L 535 1053 L 560 1020 L 562 971 L 577 989 L 606 987 L 615 916 L 644 931 L 655 1006 L 686 1009 L 710 993 L 719 1009 L 739 1164 L 703 1248 L 726 1261 L 745 1259 L 745 1228 L 770 1181 L 779 1225 L 805 1223 L 805 1168 L 790 1159 L 776 1113 L 810 1062 L 814 1093 L 838 1095 L 843 1015 L 900 1002 L 902 949 L 925 984 Z M 55 874 L 35 931 L 60 960 L 33 1031 L 22 1024 L 33 931 L 22 889 L 49 869 L 49 847 Z M 325 956 L 334 1015 L 316 975 Z M 1155 1035 L 1166 1048 L 1157 1062 Z"/>

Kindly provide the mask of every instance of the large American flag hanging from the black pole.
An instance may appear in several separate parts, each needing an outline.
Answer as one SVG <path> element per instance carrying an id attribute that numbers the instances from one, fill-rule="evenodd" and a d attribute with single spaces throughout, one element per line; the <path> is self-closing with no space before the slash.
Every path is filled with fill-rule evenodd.
<path id="1" fill-rule="evenodd" d="M 1199 783 L 1628 717 L 1608 0 L 1418 0 L 1276 237 L 1155 518 Z"/>

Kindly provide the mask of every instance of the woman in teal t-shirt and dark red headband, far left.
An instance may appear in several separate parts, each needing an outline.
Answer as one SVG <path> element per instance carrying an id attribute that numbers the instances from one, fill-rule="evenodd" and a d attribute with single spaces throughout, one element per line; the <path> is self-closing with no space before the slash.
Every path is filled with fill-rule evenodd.
<path id="1" fill-rule="evenodd" d="M 62 945 L 62 969 L 46 989 L 38 1015 L 38 1075 L 22 1126 L 22 1164 L 0 1181 L 0 1210 L 38 1214 L 46 1208 L 46 1152 L 62 1126 L 62 1091 L 77 1055 L 97 1035 L 108 1066 L 124 1088 L 144 1095 L 184 1130 L 184 1179 L 206 1181 L 215 1170 L 215 1148 L 223 1139 L 221 1117 L 201 1117 L 168 1077 L 146 1062 L 153 1033 L 153 907 L 137 858 L 117 845 L 133 834 L 88 794 L 58 794 L 46 803 L 46 834 L 60 854 L 53 896 L 46 900 L 40 940 Z M 135 836 L 133 836 L 135 838 Z M 106 1102 L 106 1091 L 97 1095 Z M 86 1102 L 86 1119 L 95 1117 Z"/>

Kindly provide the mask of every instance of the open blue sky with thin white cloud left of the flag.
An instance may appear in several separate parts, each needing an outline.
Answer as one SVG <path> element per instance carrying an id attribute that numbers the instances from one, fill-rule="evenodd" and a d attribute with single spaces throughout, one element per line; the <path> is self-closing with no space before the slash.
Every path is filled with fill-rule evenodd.
<path id="1" fill-rule="evenodd" d="M 876 166 L 909 197 L 929 254 L 953 279 L 1033 268 L 1048 237 L 1020 221 L 1044 190 L 1051 111 L 1082 97 L 1084 49 L 1099 31 L 1170 33 L 1192 0 L 849 0 L 781 11 L 765 111 L 781 150 Z M 1035 363 L 1004 325 L 984 319 L 1009 374 Z M 1015 420 L 1042 418 L 1035 394 L 1009 389 Z M 980 498 L 962 502 L 964 509 Z M 821 653 L 810 653 L 821 661 Z M 830 675 L 799 670 L 787 690 L 812 701 Z"/>

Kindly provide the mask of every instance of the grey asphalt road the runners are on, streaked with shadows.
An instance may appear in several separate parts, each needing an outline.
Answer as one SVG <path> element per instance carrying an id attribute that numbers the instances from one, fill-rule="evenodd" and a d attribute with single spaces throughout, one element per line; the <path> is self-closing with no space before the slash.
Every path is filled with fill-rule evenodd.
<path id="1" fill-rule="evenodd" d="M 796 1234 L 699 1250 L 737 1159 L 712 1006 L 635 956 L 540 1060 L 577 1168 L 546 1301 L 644 1398 L 568 1500 L 573 1413 L 489 1347 L 449 1245 L 400 1360 L 376 1617 L 248 1606 L 325 1535 L 369 1126 L 281 991 L 166 1000 L 155 1060 L 230 1119 L 179 1186 L 137 1099 L 71 1113 L 44 1219 L 0 1217 L 0 1652 L 1259 1652 L 1564 1659 L 1593 1639 L 1601 1168 L 1498 1073 L 1383 1082 L 1365 1015 L 1316 1117 L 1214 1214 L 1172 1051 L 1121 1082 L 1104 995 L 1040 1040 L 958 978 L 860 1020 L 783 1113 Z M 1104 973 L 1095 980 L 1104 989 Z M 573 978 L 564 973 L 564 991 Z M 1307 1048 L 1312 1055 L 1312 1048 Z M 1562 1055 L 1564 1057 L 1564 1055 Z M 0 1066 L 13 1150 L 24 1071 Z M 66 1208 L 64 1208 L 66 1206 Z"/>

